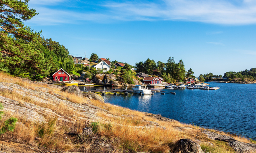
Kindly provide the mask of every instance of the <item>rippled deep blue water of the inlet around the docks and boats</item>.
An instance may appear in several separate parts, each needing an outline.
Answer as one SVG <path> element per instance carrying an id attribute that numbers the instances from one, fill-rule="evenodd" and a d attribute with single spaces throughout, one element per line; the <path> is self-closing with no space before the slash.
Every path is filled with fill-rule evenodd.
<path id="1" fill-rule="evenodd" d="M 103 98 L 105 102 L 114 105 L 256 139 L 256 84 L 211 83 L 210 87 L 220 89 L 159 88 L 176 92 L 176 95 L 106 95 Z M 79 88 L 83 89 L 84 86 Z M 104 89 L 89 86 L 85 88 Z"/>

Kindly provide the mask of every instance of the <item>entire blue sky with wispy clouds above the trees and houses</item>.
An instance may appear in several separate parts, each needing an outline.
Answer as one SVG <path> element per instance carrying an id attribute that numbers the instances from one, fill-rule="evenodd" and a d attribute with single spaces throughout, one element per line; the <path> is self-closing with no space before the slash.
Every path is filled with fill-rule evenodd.
<path id="1" fill-rule="evenodd" d="M 256 67 L 255 0 L 30 0 L 26 21 L 68 48 L 131 65 L 183 60 L 194 74 Z"/>

